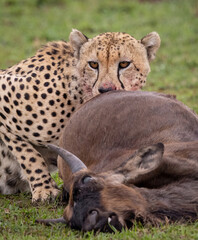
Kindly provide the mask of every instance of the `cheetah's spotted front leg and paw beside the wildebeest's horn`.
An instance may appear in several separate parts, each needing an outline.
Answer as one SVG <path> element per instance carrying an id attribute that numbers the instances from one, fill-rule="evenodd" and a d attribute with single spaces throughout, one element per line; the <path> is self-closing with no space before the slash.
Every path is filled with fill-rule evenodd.
<path id="1" fill-rule="evenodd" d="M 56 197 L 59 190 L 41 154 L 30 143 L 11 133 L 2 134 L 1 138 L 18 160 L 30 184 L 32 201 L 45 201 L 49 197 Z"/>

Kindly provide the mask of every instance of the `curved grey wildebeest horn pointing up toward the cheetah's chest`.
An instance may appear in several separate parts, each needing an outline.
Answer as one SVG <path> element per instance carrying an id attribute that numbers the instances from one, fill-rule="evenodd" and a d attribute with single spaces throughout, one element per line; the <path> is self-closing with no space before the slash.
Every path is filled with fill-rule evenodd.
<path id="1" fill-rule="evenodd" d="M 49 148 L 54 150 L 58 155 L 60 155 L 63 160 L 68 164 L 69 168 L 71 169 L 72 173 L 76 173 L 82 169 L 86 169 L 87 167 L 85 164 L 74 154 L 70 153 L 69 151 L 57 147 L 53 144 L 48 144 L 47 145 Z"/>

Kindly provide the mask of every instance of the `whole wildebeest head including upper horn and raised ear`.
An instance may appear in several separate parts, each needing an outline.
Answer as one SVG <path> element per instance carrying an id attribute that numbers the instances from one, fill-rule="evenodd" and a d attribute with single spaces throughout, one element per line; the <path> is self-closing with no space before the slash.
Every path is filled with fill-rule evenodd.
<path id="1" fill-rule="evenodd" d="M 135 183 L 140 177 L 146 179 L 156 172 L 162 162 L 163 144 L 140 149 L 116 170 L 102 174 L 88 170 L 68 151 L 50 147 L 61 155 L 73 172 L 69 204 L 63 215 L 67 225 L 82 231 L 112 232 L 113 228 L 120 231 L 131 227 L 136 219 L 145 220 L 147 203 L 144 197 L 135 186 L 124 183 L 129 175 Z"/>

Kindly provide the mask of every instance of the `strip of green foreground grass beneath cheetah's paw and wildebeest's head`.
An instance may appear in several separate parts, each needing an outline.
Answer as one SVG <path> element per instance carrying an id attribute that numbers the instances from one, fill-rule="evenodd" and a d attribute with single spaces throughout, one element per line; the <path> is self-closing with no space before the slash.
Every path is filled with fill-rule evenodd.
<path id="1" fill-rule="evenodd" d="M 133 230 L 115 234 L 96 234 L 71 231 L 62 224 L 46 227 L 35 223 L 38 218 L 55 218 L 62 215 L 64 206 L 43 204 L 32 206 L 31 196 L 20 194 L 1 196 L 0 240 L 25 239 L 198 239 L 198 222 L 188 225 L 167 225 L 159 228 L 135 225 Z"/>

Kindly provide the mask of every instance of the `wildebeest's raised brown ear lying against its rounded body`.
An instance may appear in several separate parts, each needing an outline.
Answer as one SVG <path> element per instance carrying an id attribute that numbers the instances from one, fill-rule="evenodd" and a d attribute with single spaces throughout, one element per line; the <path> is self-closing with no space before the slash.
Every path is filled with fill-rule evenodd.
<path id="1" fill-rule="evenodd" d="M 163 153 L 162 143 L 137 150 L 122 168 L 126 172 L 125 182 L 135 184 L 152 177 L 161 166 Z"/>

